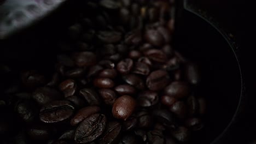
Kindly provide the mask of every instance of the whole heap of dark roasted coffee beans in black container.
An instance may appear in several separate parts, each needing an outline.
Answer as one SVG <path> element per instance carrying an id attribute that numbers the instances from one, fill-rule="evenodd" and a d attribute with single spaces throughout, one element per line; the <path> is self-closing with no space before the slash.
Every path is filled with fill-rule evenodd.
<path id="1" fill-rule="evenodd" d="M 54 70 L 22 71 L 5 89 L 0 142 L 189 142 L 206 102 L 199 68 L 173 49 L 174 2 L 84 3 Z"/>

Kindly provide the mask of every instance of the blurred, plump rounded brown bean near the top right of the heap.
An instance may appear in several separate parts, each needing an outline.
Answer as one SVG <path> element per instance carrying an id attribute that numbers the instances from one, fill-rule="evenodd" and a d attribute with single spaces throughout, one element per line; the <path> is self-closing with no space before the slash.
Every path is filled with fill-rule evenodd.
<path id="1" fill-rule="evenodd" d="M 165 42 L 165 38 L 163 37 L 163 35 L 154 29 L 148 29 L 145 32 L 144 39 L 149 44 L 152 44 L 158 47 L 162 46 Z"/>

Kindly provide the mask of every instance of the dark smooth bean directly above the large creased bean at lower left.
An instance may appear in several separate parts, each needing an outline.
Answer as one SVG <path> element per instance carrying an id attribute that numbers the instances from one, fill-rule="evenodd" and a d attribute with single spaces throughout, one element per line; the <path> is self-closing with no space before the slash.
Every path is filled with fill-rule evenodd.
<path id="1" fill-rule="evenodd" d="M 37 88 L 36 91 L 33 92 L 32 98 L 39 105 L 44 105 L 49 103 L 50 101 L 60 100 L 62 98 L 62 95 L 54 88 L 41 87 Z"/>

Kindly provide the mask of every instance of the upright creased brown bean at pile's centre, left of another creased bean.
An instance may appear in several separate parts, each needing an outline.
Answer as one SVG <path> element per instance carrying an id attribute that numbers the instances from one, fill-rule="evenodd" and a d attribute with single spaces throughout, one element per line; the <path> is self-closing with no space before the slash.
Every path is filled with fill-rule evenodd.
<path id="1" fill-rule="evenodd" d="M 123 61 L 119 62 L 117 65 L 117 70 L 121 74 L 129 74 L 133 67 L 133 61 L 130 58 L 126 58 Z"/>

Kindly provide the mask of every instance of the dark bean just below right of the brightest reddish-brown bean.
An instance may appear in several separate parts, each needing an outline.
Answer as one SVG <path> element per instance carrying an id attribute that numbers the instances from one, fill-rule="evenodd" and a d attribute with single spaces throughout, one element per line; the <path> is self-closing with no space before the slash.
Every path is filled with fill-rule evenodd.
<path id="1" fill-rule="evenodd" d="M 153 119 L 147 111 L 139 111 L 136 116 L 138 119 L 138 128 L 149 128 L 152 126 Z"/>

